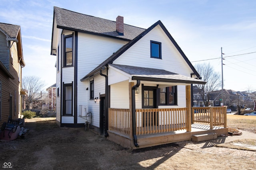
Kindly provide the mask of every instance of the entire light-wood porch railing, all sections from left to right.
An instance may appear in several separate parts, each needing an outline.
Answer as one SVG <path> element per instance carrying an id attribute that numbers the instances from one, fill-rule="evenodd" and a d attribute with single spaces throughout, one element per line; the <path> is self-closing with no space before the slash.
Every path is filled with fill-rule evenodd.
<path id="1" fill-rule="evenodd" d="M 136 135 L 147 135 L 178 130 L 187 130 L 191 127 L 191 118 L 188 118 L 188 108 L 172 109 L 136 109 Z M 189 120 L 188 120 L 189 119 Z M 108 129 L 130 135 L 131 115 L 129 109 L 108 110 Z M 209 124 L 227 127 L 226 106 L 224 107 L 192 107 L 192 123 Z"/>

